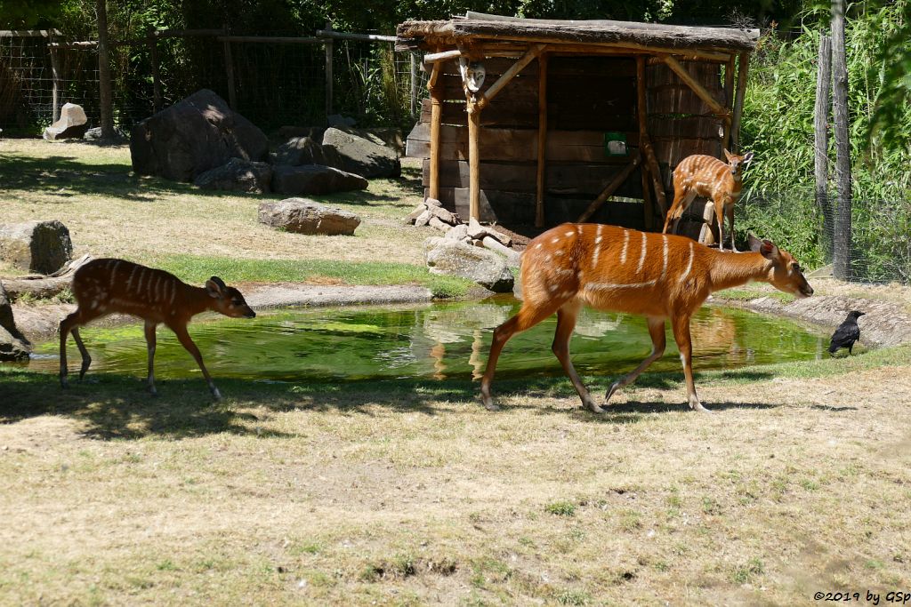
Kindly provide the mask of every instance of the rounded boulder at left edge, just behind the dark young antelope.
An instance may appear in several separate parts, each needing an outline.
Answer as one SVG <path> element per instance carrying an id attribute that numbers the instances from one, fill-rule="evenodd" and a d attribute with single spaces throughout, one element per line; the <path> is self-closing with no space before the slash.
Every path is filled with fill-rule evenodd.
<path id="1" fill-rule="evenodd" d="M 0 226 L 0 259 L 15 268 L 53 274 L 72 257 L 69 230 L 56 219 Z"/>

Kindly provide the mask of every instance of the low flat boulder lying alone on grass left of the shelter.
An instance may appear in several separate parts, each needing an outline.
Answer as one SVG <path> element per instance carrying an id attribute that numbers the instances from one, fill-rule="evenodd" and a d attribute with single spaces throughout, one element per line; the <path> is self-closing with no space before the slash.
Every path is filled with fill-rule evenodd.
<path id="1" fill-rule="evenodd" d="M 280 202 L 261 203 L 260 223 L 298 234 L 351 236 L 361 225 L 361 218 L 307 198 L 285 198 Z"/>

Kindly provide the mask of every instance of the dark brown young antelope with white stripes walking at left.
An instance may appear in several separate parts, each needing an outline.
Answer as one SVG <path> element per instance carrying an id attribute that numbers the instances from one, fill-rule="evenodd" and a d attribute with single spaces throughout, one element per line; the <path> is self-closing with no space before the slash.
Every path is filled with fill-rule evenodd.
<path id="1" fill-rule="evenodd" d="M 252 319 L 256 312 L 250 309 L 241 291 L 228 287 L 216 276 L 206 281 L 205 287 L 193 287 L 162 269 L 146 268 L 124 259 L 95 259 L 77 269 L 73 276 L 73 295 L 78 306 L 75 312 L 60 321 L 60 384 L 67 388 L 67 335 L 73 339 L 82 354 L 79 380 L 86 375 L 92 359 L 79 336 L 79 327 L 114 312 L 129 314 L 146 321 L 148 346 L 148 391 L 155 389 L 155 329 L 159 324 L 174 331 L 184 348 L 202 369 L 212 396 L 221 398 L 209 371 L 202 362 L 200 349 L 189 337 L 190 319 L 206 310 L 219 312 L 231 318 Z"/>

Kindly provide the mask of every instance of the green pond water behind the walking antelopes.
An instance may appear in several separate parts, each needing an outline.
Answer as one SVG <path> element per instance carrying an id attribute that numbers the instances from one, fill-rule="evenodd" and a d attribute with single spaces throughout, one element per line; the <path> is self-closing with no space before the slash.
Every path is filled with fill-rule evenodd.
<path id="1" fill-rule="evenodd" d="M 493 329 L 518 310 L 513 298 L 401 308 L 275 309 L 256 319 L 199 317 L 189 326 L 212 375 L 218 378 L 303 381 L 341 379 L 472 379 L 484 371 Z M 511 339 L 497 377 L 562 375 L 550 351 L 556 316 Z M 825 336 L 790 320 L 740 309 L 705 307 L 692 320 L 693 366 L 733 369 L 820 358 Z M 89 373 L 145 377 L 142 324 L 82 329 L 92 355 Z M 156 376 L 200 376 L 189 353 L 169 329 L 159 327 Z M 41 344 L 27 365 L 58 370 L 56 342 Z M 651 348 L 645 320 L 584 310 L 570 344 L 582 374 L 616 375 L 633 369 Z M 79 353 L 68 341 L 71 372 Z M 668 333 L 668 349 L 650 370 L 680 370 Z"/>

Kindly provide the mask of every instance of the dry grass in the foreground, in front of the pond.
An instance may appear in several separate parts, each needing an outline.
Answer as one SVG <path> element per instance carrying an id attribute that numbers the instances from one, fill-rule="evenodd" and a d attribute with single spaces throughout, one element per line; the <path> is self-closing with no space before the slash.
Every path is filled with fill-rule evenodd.
<path id="1" fill-rule="evenodd" d="M 497 386 L 499 413 L 457 382 L 235 382 L 224 405 L 192 381 L 159 400 L 125 379 L 10 383 L 46 404 L 0 426 L 0 602 L 807 604 L 908 586 L 911 367 L 702 379 L 712 415 L 661 385 L 599 417 L 553 381 Z"/>

